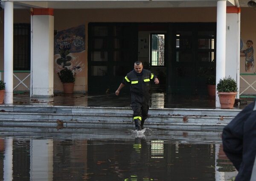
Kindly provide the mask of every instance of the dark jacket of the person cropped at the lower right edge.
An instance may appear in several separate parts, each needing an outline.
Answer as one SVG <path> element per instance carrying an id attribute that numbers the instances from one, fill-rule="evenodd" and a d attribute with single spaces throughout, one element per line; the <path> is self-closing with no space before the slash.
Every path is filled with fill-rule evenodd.
<path id="1" fill-rule="evenodd" d="M 255 181 L 255 101 L 250 105 L 247 105 L 247 107 L 245 107 L 226 127 L 224 127 L 222 142 L 224 152 L 239 171 L 236 176 L 236 181 Z"/>

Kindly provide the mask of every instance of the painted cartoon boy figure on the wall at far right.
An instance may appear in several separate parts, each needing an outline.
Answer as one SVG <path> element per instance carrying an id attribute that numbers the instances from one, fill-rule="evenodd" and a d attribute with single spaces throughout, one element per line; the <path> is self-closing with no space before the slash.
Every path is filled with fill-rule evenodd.
<path id="1" fill-rule="evenodd" d="M 253 57 L 253 41 L 247 40 L 246 42 L 247 48 L 245 50 L 241 50 L 240 57 L 245 57 L 245 71 L 253 72 L 254 71 L 254 57 Z"/>

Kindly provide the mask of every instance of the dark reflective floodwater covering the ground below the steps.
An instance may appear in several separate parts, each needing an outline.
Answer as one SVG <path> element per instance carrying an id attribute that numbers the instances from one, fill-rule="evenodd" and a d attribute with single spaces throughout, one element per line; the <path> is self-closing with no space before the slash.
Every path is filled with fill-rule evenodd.
<path id="1" fill-rule="evenodd" d="M 228 181 L 237 174 L 218 132 L 61 131 L 0 132 L 0 180 Z"/>

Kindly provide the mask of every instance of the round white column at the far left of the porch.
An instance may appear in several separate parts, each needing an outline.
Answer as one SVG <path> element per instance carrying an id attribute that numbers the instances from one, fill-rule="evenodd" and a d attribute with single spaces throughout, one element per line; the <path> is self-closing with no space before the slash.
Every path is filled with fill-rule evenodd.
<path id="1" fill-rule="evenodd" d="M 13 103 L 13 2 L 4 3 L 4 103 Z"/>

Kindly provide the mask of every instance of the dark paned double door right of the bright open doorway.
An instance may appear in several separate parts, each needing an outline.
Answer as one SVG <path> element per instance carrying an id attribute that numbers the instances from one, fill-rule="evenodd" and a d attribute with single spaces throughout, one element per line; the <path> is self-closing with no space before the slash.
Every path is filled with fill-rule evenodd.
<path id="1" fill-rule="evenodd" d="M 174 23 L 169 28 L 168 92 L 207 94 L 207 75 L 215 74 L 216 24 Z"/>

